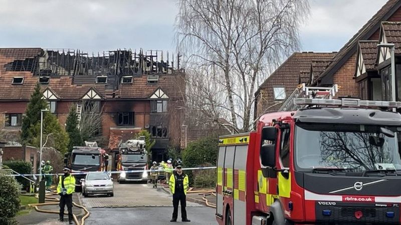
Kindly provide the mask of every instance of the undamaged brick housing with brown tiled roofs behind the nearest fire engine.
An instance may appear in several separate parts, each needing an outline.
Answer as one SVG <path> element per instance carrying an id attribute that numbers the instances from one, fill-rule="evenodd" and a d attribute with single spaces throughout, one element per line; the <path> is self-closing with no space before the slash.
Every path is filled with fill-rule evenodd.
<path id="1" fill-rule="evenodd" d="M 401 86 L 401 46 L 398 40 L 401 39 L 401 26 L 398 21 L 401 21 L 401 1 L 388 0 L 332 58 L 326 55 L 325 58 L 320 58 L 324 58 L 323 60 L 312 60 L 309 72 L 302 71 L 305 69 L 304 61 L 297 59 L 302 56 L 294 53 L 259 87 L 256 92 L 255 116 L 277 110 L 301 81 L 315 86 L 338 84 L 341 88 L 337 96 L 389 100 L 389 49 L 378 48 L 378 43 L 395 44 L 396 95 L 397 100 L 400 100 L 401 97 L 398 96 L 401 96 L 401 88 L 398 87 Z M 286 70 L 282 71 L 282 67 Z M 300 75 L 297 74 L 298 71 Z M 309 77 L 309 80 L 302 80 L 302 77 Z M 275 87 L 276 95 L 281 100 L 274 95 Z M 285 90 L 279 87 L 285 87 Z"/>

